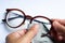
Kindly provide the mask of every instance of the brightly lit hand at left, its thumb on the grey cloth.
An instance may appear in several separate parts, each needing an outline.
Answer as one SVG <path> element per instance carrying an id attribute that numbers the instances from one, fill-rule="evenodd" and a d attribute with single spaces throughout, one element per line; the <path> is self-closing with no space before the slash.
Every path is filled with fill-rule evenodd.
<path id="1" fill-rule="evenodd" d="M 30 43 L 38 32 L 38 25 L 32 26 L 28 31 L 21 30 L 6 37 L 6 43 Z"/>

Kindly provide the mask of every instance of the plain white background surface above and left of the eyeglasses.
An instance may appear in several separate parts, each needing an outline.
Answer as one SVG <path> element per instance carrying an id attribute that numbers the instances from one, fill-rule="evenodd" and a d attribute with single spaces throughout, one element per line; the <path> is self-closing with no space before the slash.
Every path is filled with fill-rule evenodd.
<path id="1" fill-rule="evenodd" d="M 42 15 L 49 18 L 65 18 L 65 0 L 0 0 L 0 20 L 5 9 L 20 9 L 26 15 Z M 0 43 L 3 43 L 5 28 L 0 24 Z"/>

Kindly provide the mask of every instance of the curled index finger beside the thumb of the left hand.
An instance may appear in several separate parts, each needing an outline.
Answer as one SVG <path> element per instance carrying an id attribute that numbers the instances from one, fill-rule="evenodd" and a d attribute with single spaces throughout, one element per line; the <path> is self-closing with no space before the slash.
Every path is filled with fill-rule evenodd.
<path id="1" fill-rule="evenodd" d="M 17 40 L 20 37 L 24 35 L 26 32 L 26 30 L 20 30 L 20 31 L 16 31 L 16 32 L 12 32 L 10 33 L 6 39 L 8 40 Z"/>

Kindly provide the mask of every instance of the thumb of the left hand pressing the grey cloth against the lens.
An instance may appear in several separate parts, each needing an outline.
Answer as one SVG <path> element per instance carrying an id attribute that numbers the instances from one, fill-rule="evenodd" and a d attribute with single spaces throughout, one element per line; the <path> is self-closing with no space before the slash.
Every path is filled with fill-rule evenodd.
<path id="1" fill-rule="evenodd" d="M 28 32 L 24 35 L 24 40 L 26 41 L 30 41 L 31 39 L 34 39 L 34 37 L 37 34 L 38 32 L 38 25 L 34 25 Z"/>

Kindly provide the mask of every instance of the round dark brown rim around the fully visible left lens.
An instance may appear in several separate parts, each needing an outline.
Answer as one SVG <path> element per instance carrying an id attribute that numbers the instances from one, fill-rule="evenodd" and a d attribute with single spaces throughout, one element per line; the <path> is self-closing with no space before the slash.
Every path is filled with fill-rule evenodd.
<path id="1" fill-rule="evenodd" d="M 23 20 L 18 26 L 12 27 L 12 26 L 10 26 L 10 25 L 8 24 L 6 16 L 8 16 L 8 14 L 9 14 L 11 11 L 18 11 L 18 12 L 21 12 L 21 13 L 24 15 L 24 20 Z M 25 13 L 24 13 L 22 10 L 18 10 L 18 9 L 6 9 L 5 22 L 6 22 L 6 25 L 8 25 L 9 27 L 11 27 L 11 28 L 18 28 L 18 27 L 21 27 L 21 26 L 24 24 L 24 22 L 25 22 Z"/>

